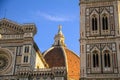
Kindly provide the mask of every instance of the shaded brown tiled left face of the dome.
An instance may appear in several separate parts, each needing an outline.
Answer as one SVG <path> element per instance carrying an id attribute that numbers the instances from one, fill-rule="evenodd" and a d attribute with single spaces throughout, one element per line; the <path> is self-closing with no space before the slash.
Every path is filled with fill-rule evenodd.
<path id="1" fill-rule="evenodd" d="M 62 48 L 53 48 L 44 56 L 49 67 L 65 67 L 65 58 Z"/>

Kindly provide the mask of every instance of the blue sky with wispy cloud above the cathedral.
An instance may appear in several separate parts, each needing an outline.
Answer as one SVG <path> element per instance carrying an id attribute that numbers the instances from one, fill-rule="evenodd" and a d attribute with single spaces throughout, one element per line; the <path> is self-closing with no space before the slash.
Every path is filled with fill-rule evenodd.
<path id="1" fill-rule="evenodd" d="M 62 25 L 65 43 L 76 54 L 79 50 L 79 0 L 0 0 L 0 18 L 35 23 L 35 42 L 41 52 L 54 43 L 58 25 Z"/>

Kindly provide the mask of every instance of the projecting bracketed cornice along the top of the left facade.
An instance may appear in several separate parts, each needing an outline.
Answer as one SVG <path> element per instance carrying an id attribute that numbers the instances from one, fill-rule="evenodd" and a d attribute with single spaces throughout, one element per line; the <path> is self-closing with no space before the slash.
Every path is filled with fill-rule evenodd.
<path id="1" fill-rule="evenodd" d="M 25 24 L 18 24 L 6 18 L 0 19 L 0 26 L 2 28 L 9 29 L 11 32 L 13 31 L 16 34 L 21 33 L 33 33 L 36 34 L 37 29 L 34 23 L 25 23 Z"/>

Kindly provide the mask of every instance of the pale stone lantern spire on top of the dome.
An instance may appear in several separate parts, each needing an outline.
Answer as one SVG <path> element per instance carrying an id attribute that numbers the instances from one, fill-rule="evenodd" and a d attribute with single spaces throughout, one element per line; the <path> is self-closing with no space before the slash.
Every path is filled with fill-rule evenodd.
<path id="1" fill-rule="evenodd" d="M 59 25 L 58 26 L 58 33 L 54 37 L 55 42 L 54 42 L 53 46 L 64 46 L 65 47 L 66 45 L 64 43 L 64 39 L 65 38 L 64 38 L 64 35 L 62 33 L 62 26 Z"/>

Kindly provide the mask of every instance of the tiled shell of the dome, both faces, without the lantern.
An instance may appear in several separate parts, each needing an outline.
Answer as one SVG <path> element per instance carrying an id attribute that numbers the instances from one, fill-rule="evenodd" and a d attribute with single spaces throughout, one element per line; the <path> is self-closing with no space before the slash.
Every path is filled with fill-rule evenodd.
<path id="1" fill-rule="evenodd" d="M 80 79 L 80 57 L 66 47 L 54 47 L 45 53 L 44 58 L 50 68 L 66 66 L 68 79 Z"/>

